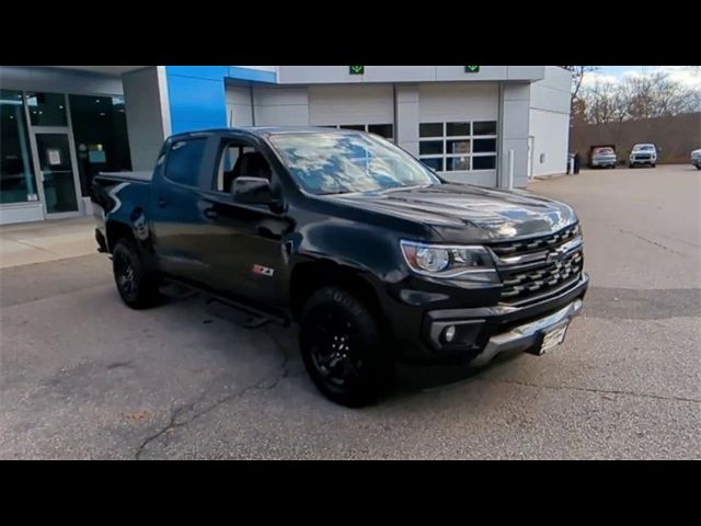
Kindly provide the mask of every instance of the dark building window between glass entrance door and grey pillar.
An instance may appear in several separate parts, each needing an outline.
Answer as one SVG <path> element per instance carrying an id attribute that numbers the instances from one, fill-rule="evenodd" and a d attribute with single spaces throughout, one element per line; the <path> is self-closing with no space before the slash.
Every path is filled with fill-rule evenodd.
<path id="1" fill-rule="evenodd" d="M 69 95 L 83 196 L 100 172 L 131 170 L 123 96 Z"/>

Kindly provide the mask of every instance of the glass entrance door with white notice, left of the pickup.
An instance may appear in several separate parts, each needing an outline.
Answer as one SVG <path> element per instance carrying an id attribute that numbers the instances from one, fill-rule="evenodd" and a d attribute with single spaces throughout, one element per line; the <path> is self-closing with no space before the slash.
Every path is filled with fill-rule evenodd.
<path id="1" fill-rule="evenodd" d="M 46 217 L 79 215 L 78 173 L 68 130 L 35 129 L 32 135 Z"/>

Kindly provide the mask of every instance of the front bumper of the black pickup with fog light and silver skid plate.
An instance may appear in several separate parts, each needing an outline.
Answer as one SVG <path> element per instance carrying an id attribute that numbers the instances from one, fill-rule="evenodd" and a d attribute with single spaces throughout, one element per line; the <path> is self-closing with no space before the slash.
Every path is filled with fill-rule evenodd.
<path id="1" fill-rule="evenodd" d="M 398 358 L 481 365 L 503 352 L 539 348 L 547 329 L 565 323 L 581 312 L 588 285 L 589 277 L 583 273 L 564 291 L 521 307 L 495 305 L 425 310 L 412 312 L 411 318 L 404 313 L 399 319 L 395 315 L 390 321 L 401 350 Z M 456 328 L 456 335 L 447 343 L 444 331 L 450 325 Z"/>

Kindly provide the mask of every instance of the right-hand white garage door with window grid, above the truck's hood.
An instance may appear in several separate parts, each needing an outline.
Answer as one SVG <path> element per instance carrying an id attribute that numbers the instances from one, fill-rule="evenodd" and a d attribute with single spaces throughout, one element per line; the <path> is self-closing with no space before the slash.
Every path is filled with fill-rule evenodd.
<path id="1" fill-rule="evenodd" d="M 496 186 L 498 84 L 422 84 L 418 155 L 451 181 Z"/>

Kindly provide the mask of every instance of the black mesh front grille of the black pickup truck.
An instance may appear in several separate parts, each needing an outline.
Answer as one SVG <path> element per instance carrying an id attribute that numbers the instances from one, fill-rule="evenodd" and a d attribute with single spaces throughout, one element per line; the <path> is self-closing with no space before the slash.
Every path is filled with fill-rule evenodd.
<path id="1" fill-rule="evenodd" d="M 578 236 L 579 226 L 574 225 L 541 238 L 490 245 L 497 256 L 504 285 L 502 302 L 535 301 L 577 283 L 584 266 L 582 245 L 574 245 L 561 255 L 558 249 L 564 250 L 570 241 L 576 243 Z"/>

